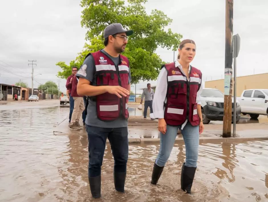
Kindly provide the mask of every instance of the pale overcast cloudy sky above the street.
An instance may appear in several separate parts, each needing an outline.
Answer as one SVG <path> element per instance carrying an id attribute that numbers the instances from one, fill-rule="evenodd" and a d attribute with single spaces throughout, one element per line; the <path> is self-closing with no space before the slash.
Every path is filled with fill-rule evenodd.
<path id="1" fill-rule="evenodd" d="M 42 74 L 34 77 L 34 88 L 47 80 L 56 82 L 60 68 L 55 63 L 69 64 L 85 43 L 79 4 L 79 0 L 1 1 L 0 83 L 14 84 L 21 79 L 31 86 L 28 60 L 37 60 L 34 75 Z M 234 0 L 234 34 L 241 37 L 237 76 L 268 72 L 267 7 L 268 1 Z M 225 0 L 149 0 L 146 9 L 148 13 L 162 10 L 173 19 L 169 26 L 173 32 L 196 42 L 192 66 L 203 72 L 204 79 L 224 77 Z M 173 60 L 171 50 L 159 48 L 157 54 L 165 61 Z M 65 82 L 60 82 L 62 91 L 66 90 Z M 141 82 L 137 89 L 146 83 Z"/>

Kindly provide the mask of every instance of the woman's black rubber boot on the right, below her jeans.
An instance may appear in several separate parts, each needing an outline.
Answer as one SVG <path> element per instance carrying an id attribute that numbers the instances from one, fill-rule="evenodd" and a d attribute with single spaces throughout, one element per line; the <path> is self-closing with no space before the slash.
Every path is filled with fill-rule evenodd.
<path id="1" fill-rule="evenodd" d="M 195 171 L 196 167 L 188 167 L 185 163 L 182 164 L 180 186 L 183 191 L 186 191 L 186 193 L 191 193 Z"/>

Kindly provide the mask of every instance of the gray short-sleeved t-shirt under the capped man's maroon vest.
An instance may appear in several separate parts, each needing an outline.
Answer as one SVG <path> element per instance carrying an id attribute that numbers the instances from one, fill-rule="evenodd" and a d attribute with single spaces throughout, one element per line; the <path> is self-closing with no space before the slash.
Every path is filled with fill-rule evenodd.
<path id="1" fill-rule="evenodd" d="M 111 58 L 111 60 L 113 60 L 113 62 L 115 63 L 115 68 L 118 68 L 118 64 L 120 61 L 120 57 L 112 57 L 110 56 L 107 52 L 105 52 L 105 50 L 101 50 L 101 52 L 105 53 L 109 58 Z M 82 64 L 82 66 L 86 64 L 86 72 L 82 72 L 82 70 L 78 71 L 76 76 L 78 78 L 85 78 L 86 80 L 90 81 L 90 85 L 96 86 L 97 84 L 97 78 L 94 77 L 95 74 L 95 69 L 94 69 L 94 58 L 92 55 L 89 55 L 85 60 L 84 63 Z M 129 84 L 131 82 L 131 74 L 130 74 L 130 69 L 129 69 Z M 92 100 L 88 100 L 88 108 L 87 108 L 87 116 L 86 116 L 86 122 L 87 125 L 89 126 L 96 126 L 96 127 L 101 127 L 101 128 L 121 128 L 121 127 L 127 127 L 127 120 L 125 120 L 124 118 L 119 117 L 117 120 L 115 121 L 111 121 L 111 122 L 105 122 L 105 121 L 101 121 L 100 119 L 98 119 L 97 117 L 97 109 L 96 109 L 96 102 L 92 101 Z"/>

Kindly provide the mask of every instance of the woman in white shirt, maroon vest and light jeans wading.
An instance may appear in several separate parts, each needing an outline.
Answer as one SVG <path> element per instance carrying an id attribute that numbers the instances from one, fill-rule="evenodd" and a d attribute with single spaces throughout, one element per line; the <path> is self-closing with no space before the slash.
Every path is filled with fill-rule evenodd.
<path id="1" fill-rule="evenodd" d="M 178 59 L 165 64 L 159 73 L 151 118 L 158 118 L 160 150 L 155 160 L 151 184 L 157 184 L 164 169 L 177 132 L 181 129 L 186 149 L 182 164 L 181 189 L 191 193 L 196 171 L 199 134 L 204 131 L 201 113 L 202 73 L 190 65 L 196 54 L 193 40 L 183 40 Z"/>

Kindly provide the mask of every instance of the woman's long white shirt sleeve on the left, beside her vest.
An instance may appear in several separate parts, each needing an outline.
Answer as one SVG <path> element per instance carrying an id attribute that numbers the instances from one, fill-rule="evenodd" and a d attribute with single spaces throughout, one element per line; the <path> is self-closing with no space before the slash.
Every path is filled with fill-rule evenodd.
<path id="1" fill-rule="evenodd" d="M 151 118 L 164 118 L 164 101 L 167 95 L 167 70 L 162 68 L 158 78 L 153 99 Z"/>

